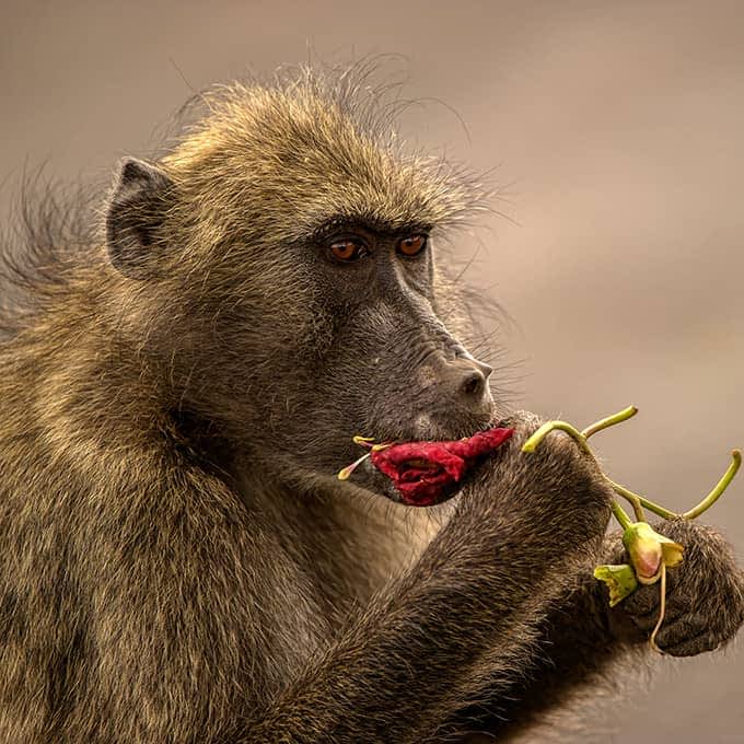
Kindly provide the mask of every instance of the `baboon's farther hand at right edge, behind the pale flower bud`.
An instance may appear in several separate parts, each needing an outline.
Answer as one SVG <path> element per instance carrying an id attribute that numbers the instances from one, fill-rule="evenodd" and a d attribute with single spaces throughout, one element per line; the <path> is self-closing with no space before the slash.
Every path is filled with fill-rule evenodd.
<path id="1" fill-rule="evenodd" d="M 686 520 L 661 522 L 654 530 L 685 548 L 683 561 L 666 572 L 666 612 L 656 646 L 673 656 L 691 656 L 726 643 L 744 621 L 744 573 L 731 545 L 710 527 Z M 611 553 L 613 562 L 627 562 L 619 537 Z M 659 584 L 639 588 L 609 611 L 611 626 L 629 640 L 648 638 L 659 619 L 660 597 Z"/>

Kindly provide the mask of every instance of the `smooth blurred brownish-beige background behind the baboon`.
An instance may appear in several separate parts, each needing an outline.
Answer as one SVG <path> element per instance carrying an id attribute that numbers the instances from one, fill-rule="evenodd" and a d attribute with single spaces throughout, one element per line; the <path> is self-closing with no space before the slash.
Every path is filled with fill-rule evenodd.
<path id="1" fill-rule="evenodd" d="M 24 167 L 105 182 L 193 90 L 309 49 L 403 54 L 407 93 L 443 102 L 405 128 L 498 166 L 513 221 L 458 249 L 483 244 L 467 276 L 515 319 L 512 400 L 579 425 L 635 403 L 602 435 L 611 473 L 672 508 L 702 496 L 744 445 L 744 5 L 3 0 L 0 216 Z M 740 478 L 709 515 L 740 555 L 743 518 Z M 656 666 L 624 730 L 586 741 L 744 741 L 741 654 Z"/>

